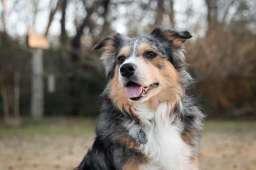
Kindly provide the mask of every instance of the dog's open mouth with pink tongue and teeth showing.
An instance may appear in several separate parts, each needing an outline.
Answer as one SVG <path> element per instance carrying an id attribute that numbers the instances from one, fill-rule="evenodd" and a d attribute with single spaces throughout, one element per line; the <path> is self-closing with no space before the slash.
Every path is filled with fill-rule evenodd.
<path id="1" fill-rule="evenodd" d="M 157 88 L 158 85 L 159 83 L 153 83 L 149 86 L 143 87 L 135 82 L 129 81 L 125 86 L 125 94 L 129 99 L 137 101 L 143 97 L 146 97 L 147 92 Z"/>

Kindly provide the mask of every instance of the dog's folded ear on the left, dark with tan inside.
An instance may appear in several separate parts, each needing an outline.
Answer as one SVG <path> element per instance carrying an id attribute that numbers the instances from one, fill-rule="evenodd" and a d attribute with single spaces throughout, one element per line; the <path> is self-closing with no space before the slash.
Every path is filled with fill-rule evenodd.
<path id="1" fill-rule="evenodd" d="M 93 48 L 93 50 L 98 50 L 101 48 L 107 48 L 108 50 L 115 50 L 115 47 L 118 46 L 123 35 L 120 33 L 115 33 L 106 38 L 101 39 Z"/>

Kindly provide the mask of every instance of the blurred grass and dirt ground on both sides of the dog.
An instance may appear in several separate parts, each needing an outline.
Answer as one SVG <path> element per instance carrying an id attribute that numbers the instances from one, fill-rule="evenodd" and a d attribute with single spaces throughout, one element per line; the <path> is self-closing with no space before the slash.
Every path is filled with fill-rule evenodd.
<path id="1" fill-rule="evenodd" d="M 71 170 L 93 143 L 95 120 L 0 125 L 0 170 Z M 208 121 L 201 170 L 256 170 L 256 122 Z"/>

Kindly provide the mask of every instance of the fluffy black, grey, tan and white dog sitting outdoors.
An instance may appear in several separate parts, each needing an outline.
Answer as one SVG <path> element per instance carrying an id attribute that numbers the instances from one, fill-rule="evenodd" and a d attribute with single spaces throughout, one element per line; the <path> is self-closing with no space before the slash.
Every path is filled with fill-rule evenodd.
<path id="1" fill-rule="evenodd" d="M 198 169 L 204 114 L 189 96 L 188 31 L 156 27 L 129 38 L 115 33 L 93 48 L 108 83 L 101 95 L 96 137 L 75 170 Z"/>

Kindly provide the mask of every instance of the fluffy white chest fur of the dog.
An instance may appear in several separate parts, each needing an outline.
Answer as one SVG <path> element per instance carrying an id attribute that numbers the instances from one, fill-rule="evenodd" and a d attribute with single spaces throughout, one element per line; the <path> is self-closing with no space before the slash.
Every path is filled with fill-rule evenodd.
<path id="1" fill-rule="evenodd" d="M 140 170 L 188 169 L 191 148 L 181 138 L 179 120 L 167 114 L 168 105 L 161 103 L 155 112 L 149 111 L 144 104 L 136 107 L 147 138 L 146 144 L 140 144 L 141 151 L 147 156 L 147 163 L 142 164 Z M 138 136 L 138 129 L 138 125 L 130 125 L 129 135 Z"/>

